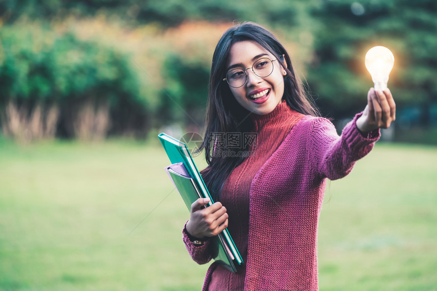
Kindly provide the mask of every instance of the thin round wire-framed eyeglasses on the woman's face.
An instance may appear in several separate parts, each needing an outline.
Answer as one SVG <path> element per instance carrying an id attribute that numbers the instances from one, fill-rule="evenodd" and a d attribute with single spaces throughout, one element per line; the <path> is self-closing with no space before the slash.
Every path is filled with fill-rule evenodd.
<path id="1" fill-rule="evenodd" d="M 273 71 L 273 61 L 269 58 L 261 58 L 254 62 L 254 64 L 251 67 L 248 67 L 246 69 L 232 69 L 228 71 L 228 74 L 226 74 L 226 78 L 223 79 L 223 81 L 228 82 L 229 86 L 234 88 L 239 88 L 246 84 L 247 81 L 247 70 L 252 69 L 255 75 L 257 75 L 260 78 L 266 78 L 272 74 Z"/>

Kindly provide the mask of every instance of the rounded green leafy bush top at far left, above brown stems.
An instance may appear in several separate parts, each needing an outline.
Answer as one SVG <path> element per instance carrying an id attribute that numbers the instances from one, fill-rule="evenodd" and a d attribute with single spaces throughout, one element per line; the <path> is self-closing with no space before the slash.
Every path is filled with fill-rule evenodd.
<path id="1" fill-rule="evenodd" d="M 59 35 L 38 23 L 4 26 L 0 33 L 3 98 L 63 101 L 91 91 L 96 98 L 137 96 L 129 62 L 116 51 L 82 42 L 72 33 Z"/>

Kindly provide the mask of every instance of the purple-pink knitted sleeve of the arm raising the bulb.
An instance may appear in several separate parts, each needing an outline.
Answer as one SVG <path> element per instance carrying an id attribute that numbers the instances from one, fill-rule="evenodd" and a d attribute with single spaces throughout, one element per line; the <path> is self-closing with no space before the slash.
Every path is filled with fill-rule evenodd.
<path id="1" fill-rule="evenodd" d="M 330 180 L 349 174 L 357 160 L 367 155 L 379 139 L 380 130 L 363 136 L 356 121 L 357 114 L 338 136 L 334 125 L 327 119 L 315 118 L 310 127 L 310 159 L 315 171 Z"/>

